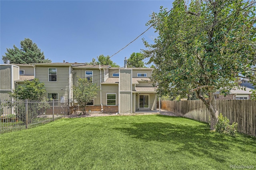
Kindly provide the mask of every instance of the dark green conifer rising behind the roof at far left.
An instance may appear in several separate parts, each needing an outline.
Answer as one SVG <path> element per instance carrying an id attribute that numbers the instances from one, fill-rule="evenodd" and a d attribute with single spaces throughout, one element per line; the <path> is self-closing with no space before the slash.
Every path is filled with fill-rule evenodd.
<path id="1" fill-rule="evenodd" d="M 21 49 L 15 45 L 14 48 L 6 48 L 5 56 L 2 56 L 4 63 L 8 61 L 12 64 L 28 64 L 28 63 L 51 63 L 50 59 L 44 58 L 44 52 L 37 47 L 29 38 L 25 38 L 20 42 Z"/>

